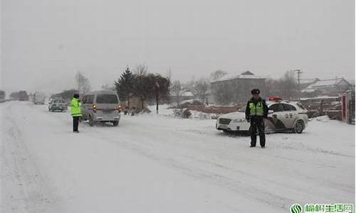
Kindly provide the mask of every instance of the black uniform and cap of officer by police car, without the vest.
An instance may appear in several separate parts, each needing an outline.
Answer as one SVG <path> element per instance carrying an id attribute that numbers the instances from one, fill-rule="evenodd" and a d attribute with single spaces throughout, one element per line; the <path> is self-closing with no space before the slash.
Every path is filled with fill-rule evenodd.
<path id="1" fill-rule="evenodd" d="M 259 89 L 252 89 L 251 94 L 260 94 Z M 250 112 L 250 103 L 253 103 L 255 107 L 257 106 L 258 102 L 261 102 L 263 105 L 263 116 L 258 115 L 251 115 Z M 262 148 L 266 146 L 266 136 L 265 136 L 265 126 L 263 119 L 267 118 L 268 115 L 268 107 L 264 100 L 259 97 L 258 99 L 254 99 L 253 97 L 247 102 L 246 105 L 246 120 L 251 122 L 250 126 L 250 133 L 251 133 L 251 147 L 256 146 L 256 134 L 257 129 L 260 135 L 260 145 Z"/>

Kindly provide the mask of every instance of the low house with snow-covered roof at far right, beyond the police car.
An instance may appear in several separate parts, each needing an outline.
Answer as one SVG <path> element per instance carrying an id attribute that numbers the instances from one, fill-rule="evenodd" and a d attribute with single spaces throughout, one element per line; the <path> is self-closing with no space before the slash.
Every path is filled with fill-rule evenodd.
<path id="1" fill-rule="evenodd" d="M 304 94 L 313 94 L 314 96 L 328 95 L 335 96 L 347 90 L 354 90 L 352 84 L 347 82 L 343 77 L 331 80 L 319 80 L 313 84 L 308 85 L 301 92 Z"/>

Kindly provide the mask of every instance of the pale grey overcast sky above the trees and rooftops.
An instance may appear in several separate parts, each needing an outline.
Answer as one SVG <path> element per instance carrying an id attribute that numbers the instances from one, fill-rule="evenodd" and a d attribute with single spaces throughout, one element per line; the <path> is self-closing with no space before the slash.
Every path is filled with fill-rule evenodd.
<path id="1" fill-rule="evenodd" d="M 355 79 L 355 0 L 1 0 L 1 88 L 60 92 L 128 65 Z"/>

